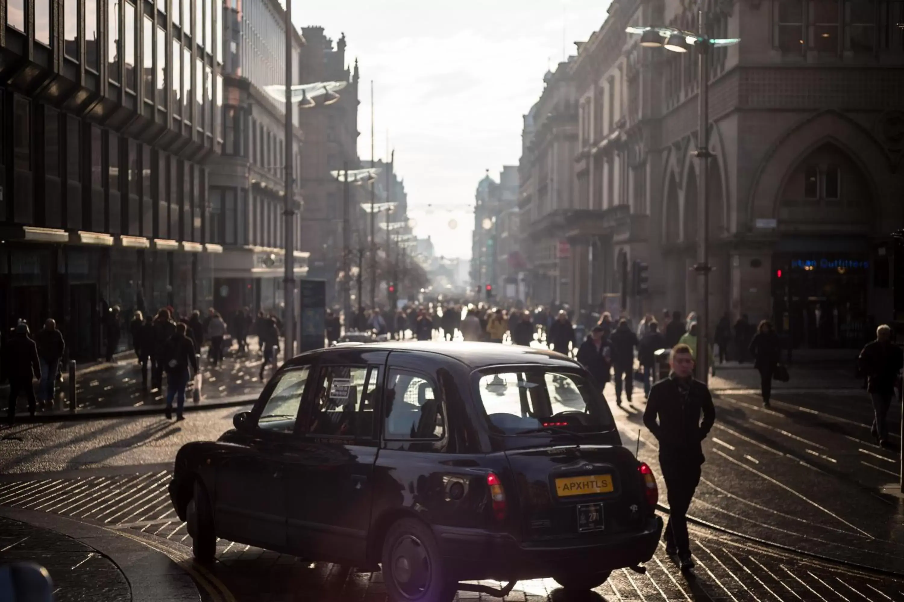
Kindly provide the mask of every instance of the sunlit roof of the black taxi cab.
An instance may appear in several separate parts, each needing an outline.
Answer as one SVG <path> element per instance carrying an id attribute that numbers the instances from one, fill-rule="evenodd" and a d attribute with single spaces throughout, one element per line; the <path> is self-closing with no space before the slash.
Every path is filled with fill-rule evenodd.
<path id="1" fill-rule="evenodd" d="M 331 353 L 348 353 L 353 349 L 362 351 L 410 351 L 437 354 L 440 356 L 457 359 L 466 366 L 479 368 L 483 366 L 498 366 L 505 364 L 536 364 L 539 366 L 569 366 L 578 364 L 560 353 L 540 349 L 537 347 L 524 347 L 522 345 L 501 345 L 499 343 L 466 343 L 459 341 L 385 341 L 379 343 L 344 343 L 336 347 L 326 347 L 309 351 L 294 357 L 288 362 L 293 364 L 296 360 L 312 355 L 328 355 Z"/>

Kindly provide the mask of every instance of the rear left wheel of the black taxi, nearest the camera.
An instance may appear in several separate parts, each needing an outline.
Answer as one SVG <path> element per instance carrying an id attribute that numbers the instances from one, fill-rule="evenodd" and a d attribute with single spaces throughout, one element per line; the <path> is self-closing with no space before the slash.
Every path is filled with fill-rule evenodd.
<path id="1" fill-rule="evenodd" d="M 456 595 L 457 581 L 447 576 L 436 538 L 417 519 L 392 524 L 383 539 L 381 567 L 392 602 L 451 602 Z"/>

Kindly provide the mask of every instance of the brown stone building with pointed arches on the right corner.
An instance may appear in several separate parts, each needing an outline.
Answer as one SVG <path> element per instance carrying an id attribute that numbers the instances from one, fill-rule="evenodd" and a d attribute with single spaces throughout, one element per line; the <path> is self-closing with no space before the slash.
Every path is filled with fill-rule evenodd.
<path id="1" fill-rule="evenodd" d="M 796 347 L 856 347 L 891 320 L 904 226 L 904 3 L 708 3 L 711 320 L 771 319 Z M 579 101 L 572 302 L 634 316 L 701 305 L 697 58 L 627 25 L 696 27 L 693 0 L 616 1 L 567 66 Z M 560 69 L 562 69 L 560 67 Z M 562 75 L 565 79 L 565 74 Z M 580 260 L 574 259 L 579 257 Z M 649 293 L 630 266 L 649 264 Z M 535 272 L 537 268 L 534 268 Z M 587 305 L 585 305 L 585 303 Z"/>

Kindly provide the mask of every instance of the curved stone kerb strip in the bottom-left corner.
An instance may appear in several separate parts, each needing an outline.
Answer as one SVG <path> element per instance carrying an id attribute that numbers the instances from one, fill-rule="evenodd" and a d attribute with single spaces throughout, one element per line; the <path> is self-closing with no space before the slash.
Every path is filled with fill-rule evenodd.
<path id="1" fill-rule="evenodd" d="M 114 530 L 23 508 L 0 506 L 0 516 L 61 533 L 98 551 L 126 578 L 132 602 L 197 602 L 201 599 L 201 592 L 191 575 L 173 559 Z"/>

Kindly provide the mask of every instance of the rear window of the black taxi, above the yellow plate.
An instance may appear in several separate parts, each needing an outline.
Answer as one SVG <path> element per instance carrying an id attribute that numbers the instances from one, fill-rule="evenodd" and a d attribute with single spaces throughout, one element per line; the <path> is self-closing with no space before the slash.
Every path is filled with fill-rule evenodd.
<path id="1" fill-rule="evenodd" d="M 612 413 L 589 378 L 544 368 L 482 371 L 481 403 L 491 428 L 504 435 L 611 431 Z"/>

